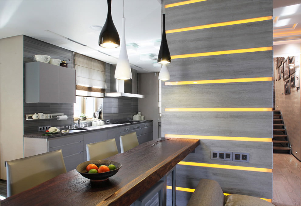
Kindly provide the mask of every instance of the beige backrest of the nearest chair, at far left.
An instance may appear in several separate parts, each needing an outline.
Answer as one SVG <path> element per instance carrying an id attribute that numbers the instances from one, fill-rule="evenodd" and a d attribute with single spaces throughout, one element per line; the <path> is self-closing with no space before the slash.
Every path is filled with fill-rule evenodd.
<path id="1" fill-rule="evenodd" d="M 7 197 L 65 173 L 62 150 L 6 162 Z"/>

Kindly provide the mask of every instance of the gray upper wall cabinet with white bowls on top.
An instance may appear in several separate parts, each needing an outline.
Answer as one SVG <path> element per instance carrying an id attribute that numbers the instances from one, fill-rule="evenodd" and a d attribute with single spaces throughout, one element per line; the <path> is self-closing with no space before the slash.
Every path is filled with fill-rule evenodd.
<path id="1" fill-rule="evenodd" d="M 26 63 L 25 102 L 75 103 L 75 70 L 43 62 Z"/>

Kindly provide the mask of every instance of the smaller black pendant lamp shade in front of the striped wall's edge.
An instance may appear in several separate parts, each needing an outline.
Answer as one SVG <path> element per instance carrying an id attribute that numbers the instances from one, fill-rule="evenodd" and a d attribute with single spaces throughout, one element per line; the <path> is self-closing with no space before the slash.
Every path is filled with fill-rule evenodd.
<path id="1" fill-rule="evenodd" d="M 166 40 L 166 33 L 165 33 L 165 14 L 163 14 L 163 31 L 162 31 L 162 39 L 160 50 L 158 54 L 158 63 L 160 64 L 168 64 L 171 63 L 171 57 L 168 49 L 168 44 Z"/>

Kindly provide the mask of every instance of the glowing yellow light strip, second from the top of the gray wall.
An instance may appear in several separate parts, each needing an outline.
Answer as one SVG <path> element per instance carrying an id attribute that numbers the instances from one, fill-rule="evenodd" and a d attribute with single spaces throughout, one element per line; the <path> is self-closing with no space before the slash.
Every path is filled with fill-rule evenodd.
<path id="1" fill-rule="evenodd" d="M 200 25 L 200 26 L 191 26 L 191 27 L 185 27 L 185 28 L 179 28 L 179 29 L 170 29 L 166 30 L 166 33 L 175 33 L 175 32 L 184 32 L 184 31 L 191 31 L 191 30 L 197 30 L 197 29 L 207 29 L 207 28 L 213 28 L 213 27 L 219 27 L 219 26 L 229 26 L 229 25 L 235 25 L 235 24 L 245 24 L 250 22 L 259 22 L 259 21 L 265 21 L 265 20 L 271 20 L 272 16 L 264 16 L 264 17 L 258 17 L 258 18 L 252 18 L 252 19 L 242 19 L 242 20 L 236 20 L 236 21 L 230 21 L 230 22 L 220 22 L 220 23 L 214 23 L 214 24 L 206 24 L 206 25 Z"/>

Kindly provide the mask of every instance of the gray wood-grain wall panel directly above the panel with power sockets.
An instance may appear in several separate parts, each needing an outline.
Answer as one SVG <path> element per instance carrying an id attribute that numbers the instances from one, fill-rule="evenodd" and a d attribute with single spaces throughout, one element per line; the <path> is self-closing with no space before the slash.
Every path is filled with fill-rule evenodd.
<path id="1" fill-rule="evenodd" d="M 273 114 L 272 112 L 164 112 L 162 137 L 165 134 L 271 138 Z"/>

